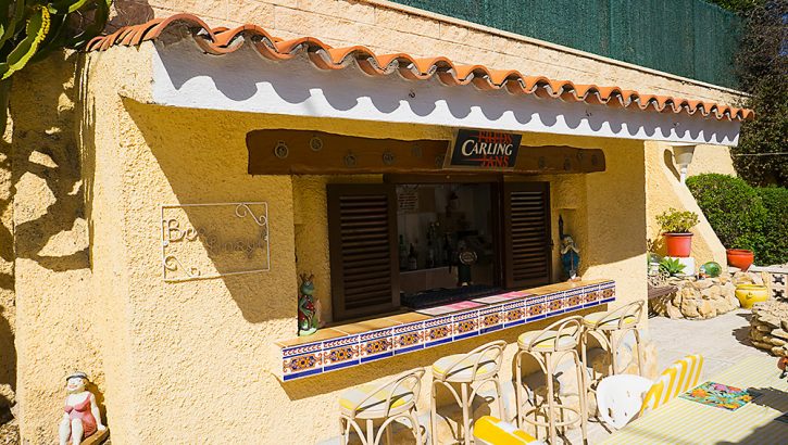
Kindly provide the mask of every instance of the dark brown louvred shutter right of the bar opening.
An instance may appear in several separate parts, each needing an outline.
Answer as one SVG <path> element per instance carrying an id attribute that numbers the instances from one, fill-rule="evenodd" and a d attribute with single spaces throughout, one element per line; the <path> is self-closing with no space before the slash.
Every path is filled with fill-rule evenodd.
<path id="1" fill-rule="evenodd" d="M 506 288 L 549 283 L 552 260 L 548 182 L 504 182 L 503 237 Z"/>

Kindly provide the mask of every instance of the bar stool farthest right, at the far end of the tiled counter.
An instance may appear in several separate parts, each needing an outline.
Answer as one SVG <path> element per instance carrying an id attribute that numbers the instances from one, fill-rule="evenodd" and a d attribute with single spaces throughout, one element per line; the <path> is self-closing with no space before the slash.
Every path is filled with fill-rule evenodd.
<path id="1" fill-rule="evenodd" d="M 638 374 L 642 376 L 642 363 L 640 359 L 640 320 L 643 315 L 643 305 L 646 302 L 633 302 L 614 310 L 599 312 L 583 317 L 585 330 L 583 332 L 583 363 L 588 365 L 587 349 L 588 335 L 599 341 L 600 346 L 605 349 L 610 356 L 610 376 L 618 373 L 616 369 L 618 360 L 618 346 L 627 332 L 633 331 L 635 334 L 635 346 L 638 349 Z"/>

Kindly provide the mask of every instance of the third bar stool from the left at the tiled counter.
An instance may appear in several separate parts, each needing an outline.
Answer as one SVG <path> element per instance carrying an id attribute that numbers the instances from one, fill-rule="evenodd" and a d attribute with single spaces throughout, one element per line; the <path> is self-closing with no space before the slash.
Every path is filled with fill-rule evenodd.
<path id="1" fill-rule="evenodd" d="M 580 336 L 583 334 L 581 321 L 583 319 L 579 316 L 564 318 L 555 321 L 541 331 L 526 332 L 517 338 L 517 346 L 520 347 L 516 355 L 515 371 L 517 374 L 517 387 L 515 392 L 517 403 L 517 425 L 522 427 L 525 421 L 535 427 L 546 427 L 550 434 L 551 444 L 555 443 L 556 428 L 570 427 L 577 424 L 578 422 L 580 423 L 583 432 L 583 441 L 588 441 L 588 434 L 586 431 L 586 419 L 588 418 L 588 406 L 586 405 L 586 372 L 583 361 L 580 361 L 580 356 L 577 353 L 577 346 L 580 344 Z M 523 356 L 526 354 L 536 359 L 547 379 L 547 422 L 539 421 L 539 412 L 543 409 L 543 403 L 542 406 L 538 406 L 535 400 L 533 408 L 529 408 L 527 411 L 523 409 L 525 394 L 523 387 L 522 364 Z M 577 394 L 580 404 L 579 408 L 555 403 L 555 390 L 553 387 L 555 366 L 560 364 L 561 359 L 567 354 L 572 357 L 577 372 Z M 560 410 L 562 415 L 564 411 L 573 412 L 575 417 L 567 417 L 566 420 L 555 421 L 554 415 L 556 410 Z M 534 419 L 528 418 L 528 415 L 530 414 L 534 414 Z"/>

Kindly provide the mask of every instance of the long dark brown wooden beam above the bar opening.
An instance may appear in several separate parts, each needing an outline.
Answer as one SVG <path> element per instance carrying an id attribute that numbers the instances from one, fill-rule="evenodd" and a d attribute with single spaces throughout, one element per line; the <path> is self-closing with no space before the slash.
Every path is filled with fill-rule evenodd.
<path id="1" fill-rule="evenodd" d="M 500 174 L 500 170 L 443 168 L 450 141 L 373 139 L 307 130 L 247 134 L 250 175 Z M 604 152 L 574 147 L 521 145 L 506 174 L 604 171 Z"/>

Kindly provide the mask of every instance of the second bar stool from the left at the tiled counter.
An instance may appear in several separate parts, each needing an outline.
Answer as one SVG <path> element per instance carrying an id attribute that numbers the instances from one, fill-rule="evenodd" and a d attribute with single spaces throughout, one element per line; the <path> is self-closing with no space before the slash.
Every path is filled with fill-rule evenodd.
<path id="1" fill-rule="evenodd" d="M 498 376 L 503 361 L 503 348 L 506 342 L 499 340 L 484 344 L 467 354 L 454 354 L 443 357 L 433 365 L 433 387 L 429 419 L 433 429 L 433 445 L 437 444 L 438 435 L 438 385 L 446 386 L 462 408 L 463 434 L 465 444 L 471 444 L 471 405 L 474 396 L 487 382 L 496 386 L 498 415 L 503 418 L 503 400 L 501 400 L 501 381 Z M 474 389 L 473 385 L 476 385 Z M 458 394 L 455 385 L 460 386 Z M 470 392 L 470 394 L 468 394 Z"/>

